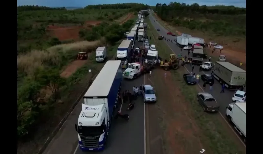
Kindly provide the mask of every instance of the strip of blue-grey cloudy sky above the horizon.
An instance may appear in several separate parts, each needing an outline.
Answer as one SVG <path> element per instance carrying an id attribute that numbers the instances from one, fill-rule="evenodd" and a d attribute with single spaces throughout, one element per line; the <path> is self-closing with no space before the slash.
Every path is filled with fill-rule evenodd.
<path id="1" fill-rule="evenodd" d="M 49 6 L 49 7 L 55 7 L 55 6 L 75 6 L 75 7 L 84 7 L 87 5 L 96 5 L 96 4 L 113 4 L 113 3 L 127 3 L 127 2 L 137 2 L 141 3 L 141 0 L 17 0 L 17 6 L 20 5 L 39 5 L 39 6 Z M 155 6 L 157 3 L 166 3 L 169 4 L 171 1 L 168 0 L 143 0 L 144 4 L 148 4 L 150 6 Z M 200 0 L 200 1 L 193 1 L 193 0 L 177 0 L 176 2 L 184 2 L 186 4 L 192 4 L 192 3 L 198 3 L 199 5 L 207 5 L 207 6 L 213 6 L 213 5 L 233 5 L 237 7 L 246 7 L 246 0 Z"/>

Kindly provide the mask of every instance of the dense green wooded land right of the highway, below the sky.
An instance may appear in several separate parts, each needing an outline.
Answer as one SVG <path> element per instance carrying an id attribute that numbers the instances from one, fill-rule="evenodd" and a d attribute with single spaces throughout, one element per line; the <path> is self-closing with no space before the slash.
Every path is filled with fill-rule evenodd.
<path id="1" fill-rule="evenodd" d="M 210 31 L 217 35 L 246 35 L 246 8 L 170 2 L 168 5 L 157 3 L 154 11 L 162 20 L 175 26 Z"/>

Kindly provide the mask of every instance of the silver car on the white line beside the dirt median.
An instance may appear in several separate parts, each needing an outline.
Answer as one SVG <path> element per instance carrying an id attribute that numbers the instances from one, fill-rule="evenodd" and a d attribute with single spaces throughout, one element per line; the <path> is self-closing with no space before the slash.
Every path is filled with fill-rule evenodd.
<path id="1" fill-rule="evenodd" d="M 153 87 L 151 85 L 144 85 L 142 88 L 143 102 L 153 102 L 157 101 L 155 96 L 155 91 L 153 91 Z"/>

